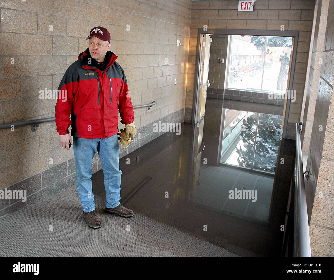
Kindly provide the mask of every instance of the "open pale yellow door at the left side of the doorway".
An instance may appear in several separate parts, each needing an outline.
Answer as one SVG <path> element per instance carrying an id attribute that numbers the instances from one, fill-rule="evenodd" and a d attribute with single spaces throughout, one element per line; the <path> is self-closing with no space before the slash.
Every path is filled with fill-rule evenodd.
<path id="1" fill-rule="evenodd" d="M 198 110 L 198 118 L 199 121 L 205 111 L 205 99 L 206 99 L 206 88 L 210 85 L 208 81 L 208 74 L 209 74 L 209 58 L 210 58 L 210 45 L 212 38 L 204 34 L 202 35 L 202 60 L 201 60 L 201 74 L 200 74 L 200 94 L 199 94 L 199 110 Z"/>

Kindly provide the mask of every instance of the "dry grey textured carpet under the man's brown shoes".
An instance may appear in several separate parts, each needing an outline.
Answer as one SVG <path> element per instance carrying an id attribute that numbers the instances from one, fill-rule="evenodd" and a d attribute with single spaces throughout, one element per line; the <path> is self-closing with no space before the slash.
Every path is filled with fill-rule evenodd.
<path id="1" fill-rule="evenodd" d="M 238 257 L 136 209 L 135 216 L 124 218 L 105 213 L 102 199 L 95 197 L 95 203 L 99 229 L 89 228 L 83 220 L 75 186 L 2 217 L 0 256 Z"/>

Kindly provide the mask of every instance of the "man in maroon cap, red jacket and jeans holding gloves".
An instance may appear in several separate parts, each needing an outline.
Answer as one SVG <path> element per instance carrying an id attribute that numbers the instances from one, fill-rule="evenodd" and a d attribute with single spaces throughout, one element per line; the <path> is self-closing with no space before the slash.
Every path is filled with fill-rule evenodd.
<path id="1" fill-rule="evenodd" d="M 109 50 L 110 33 L 97 26 L 87 39 L 89 48 L 67 68 L 58 87 L 55 121 L 62 148 L 69 150 L 73 136 L 75 184 L 82 217 L 89 227 L 100 228 L 92 191 L 93 157 L 97 150 L 106 189 L 105 212 L 133 216 L 134 212 L 120 203 L 122 171 L 119 170 L 118 111 L 125 124 L 122 141 L 124 138 L 133 140 L 137 130 L 126 76 L 116 62 L 117 55 Z"/>

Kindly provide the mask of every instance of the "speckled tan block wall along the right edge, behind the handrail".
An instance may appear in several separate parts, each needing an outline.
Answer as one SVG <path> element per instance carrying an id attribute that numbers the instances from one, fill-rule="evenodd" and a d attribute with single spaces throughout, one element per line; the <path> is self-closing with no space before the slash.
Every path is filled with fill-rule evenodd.
<path id="1" fill-rule="evenodd" d="M 332 257 L 334 254 L 334 0 L 319 1 L 319 9 L 320 6 L 328 10 L 328 16 L 324 22 L 325 28 L 321 30 L 319 27 L 318 36 L 324 34 L 323 63 L 318 73 L 319 87 L 306 165 L 306 170 L 311 173 L 309 180 L 305 180 L 305 189 L 311 252 L 319 257 Z M 324 13 L 320 15 L 320 22 L 322 15 Z M 315 54 L 316 59 L 317 56 Z M 315 74 L 316 70 L 313 75 Z"/>

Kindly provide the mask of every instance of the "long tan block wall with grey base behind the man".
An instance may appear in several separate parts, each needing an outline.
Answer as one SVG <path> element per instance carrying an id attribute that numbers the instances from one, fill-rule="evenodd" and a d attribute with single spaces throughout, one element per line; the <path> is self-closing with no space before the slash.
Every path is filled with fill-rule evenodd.
<path id="1" fill-rule="evenodd" d="M 154 122 L 183 122 L 190 15 L 191 0 L 0 1 L 2 123 L 54 117 L 56 100 L 40 99 L 39 90 L 57 89 L 67 67 L 87 49 L 91 28 L 103 26 L 133 104 L 157 101 L 150 110 L 135 109 L 140 139 L 121 157 L 148 143 L 161 134 L 153 132 Z M 92 172 L 100 169 L 96 154 Z M 74 175 L 73 149 L 59 146 L 55 122 L 40 124 L 36 132 L 31 126 L 0 130 L 0 188 L 25 189 L 28 196 L 26 202 L 1 199 L 0 217 L 73 184 Z"/>

